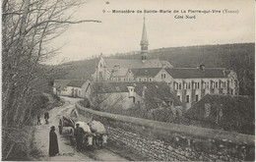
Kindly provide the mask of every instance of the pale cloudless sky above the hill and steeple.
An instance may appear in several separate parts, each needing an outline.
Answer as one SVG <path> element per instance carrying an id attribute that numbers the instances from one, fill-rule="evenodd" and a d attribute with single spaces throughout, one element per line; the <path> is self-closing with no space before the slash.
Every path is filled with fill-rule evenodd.
<path id="1" fill-rule="evenodd" d="M 101 23 L 68 27 L 50 44 L 54 48 L 63 47 L 47 64 L 84 60 L 100 53 L 107 56 L 140 50 L 144 17 L 149 49 L 255 42 L 254 7 L 253 0 L 87 0 L 74 9 L 74 20 Z M 112 13 L 112 10 L 134 10 L 135 13 Z M 137 13 L 138 10 L 142 13 Z M 144 13 L 144 10 L 171 13 Z M 188 10 L 211 13 L 188 13 Z M 224 10 L 234 13 L 224 13 Z M 196 19 L 185 19 L 186 15 Z M 177 19 L 182 16 L 183 19 Z"/>

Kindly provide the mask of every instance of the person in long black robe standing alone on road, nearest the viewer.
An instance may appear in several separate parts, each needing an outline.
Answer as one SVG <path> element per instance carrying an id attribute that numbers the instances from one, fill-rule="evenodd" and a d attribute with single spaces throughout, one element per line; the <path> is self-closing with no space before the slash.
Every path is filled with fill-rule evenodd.
<path id="1" fill-rule="evenodd" d="M 49 156 L 55 156 L 59 153 L 59 145 L 58 145 L 58 138 L 55 134 L 55 127 L 52 126 L 50 128 L 49 134 Z"/>

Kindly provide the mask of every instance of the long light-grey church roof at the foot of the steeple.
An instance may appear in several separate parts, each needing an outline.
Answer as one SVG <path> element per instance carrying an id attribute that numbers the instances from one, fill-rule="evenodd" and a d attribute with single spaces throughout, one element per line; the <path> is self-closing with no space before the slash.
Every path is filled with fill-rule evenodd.
<path id="1" fill-rule="evenodd" d="M 142 60 L 128 60 L 128 59 L 107 59 L 104 58 L 105 67 L 114 68 L 120 66 L 121 68 L 161 68 L 160 59 L 146 60 L 145 63 Z"/>

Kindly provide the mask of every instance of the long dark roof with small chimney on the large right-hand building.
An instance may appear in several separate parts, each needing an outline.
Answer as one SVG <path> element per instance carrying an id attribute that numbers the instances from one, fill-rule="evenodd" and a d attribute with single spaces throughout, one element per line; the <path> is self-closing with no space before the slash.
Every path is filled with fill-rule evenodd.
<path id="1" fill-rule="evenodd" d="M 227 78 L 230 71 L 224 68 L 205 68 L 200 70 L 197 68 L 173 68 L 165 69 L 165 71 L 173 79 L 211 79 L 211 78 Z"/>

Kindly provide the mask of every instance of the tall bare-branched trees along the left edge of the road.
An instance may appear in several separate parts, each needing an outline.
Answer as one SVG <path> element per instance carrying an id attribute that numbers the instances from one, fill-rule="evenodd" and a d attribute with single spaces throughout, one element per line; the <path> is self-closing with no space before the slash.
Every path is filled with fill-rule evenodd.
<path id="1" fill-rule="evenodd" d="M 2 131 L 3 159 L 8 159 L 15 145 L 25 139 L 14 137 L 22 132 L 34 98 L 56 74 L 56 67 L 42 65 L 58 49 L 46 46 L 73 21 L 65 14 L 82 3 L 73 0 L 3 0 L 2 1 Z"/>

